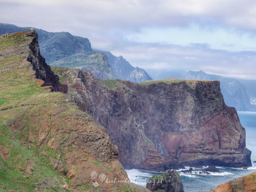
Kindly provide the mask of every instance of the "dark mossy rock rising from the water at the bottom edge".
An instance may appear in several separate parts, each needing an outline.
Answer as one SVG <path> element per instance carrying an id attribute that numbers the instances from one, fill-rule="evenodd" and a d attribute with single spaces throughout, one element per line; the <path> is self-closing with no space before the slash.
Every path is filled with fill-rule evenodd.
<path id="1" fill-rule="evenodd" d="M 180 176 L 174 169 L 168 169 L 162 175 L 153 176 L 147 186 L 150 191 L 184 192 Z"/>

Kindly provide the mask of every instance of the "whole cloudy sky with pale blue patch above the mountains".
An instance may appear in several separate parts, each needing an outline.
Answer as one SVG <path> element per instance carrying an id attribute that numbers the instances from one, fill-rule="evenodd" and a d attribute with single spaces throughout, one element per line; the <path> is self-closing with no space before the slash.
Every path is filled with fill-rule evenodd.
<path id="1" fill-rule="evenodd" d="M 0 0 L 0 22 L 88 38 L 151 74 L 256 80 L 255 0 Z"/>

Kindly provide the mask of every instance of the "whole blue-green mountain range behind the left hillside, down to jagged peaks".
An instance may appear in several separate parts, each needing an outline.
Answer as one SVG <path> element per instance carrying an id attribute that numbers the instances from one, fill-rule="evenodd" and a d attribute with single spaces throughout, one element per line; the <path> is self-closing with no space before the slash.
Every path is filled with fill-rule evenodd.
<path id="1" fill-rule="evenodd" d="M 0 23 L 0 35 L 30 28 Z M 96 51 L 107 55 L 107 58 L 93 52 L 87 38 L 73 36 L 68 32 L 53 33 L 42 29 L 36 29 L 36 32 L 40 51 L 51 66 L 79 67 L 91 71 L 99 79 L 124 79 L 133 82 L 152 80 L 144 69 L 133 67 L 122 56 L 116 57 L 109 51 Z"/>

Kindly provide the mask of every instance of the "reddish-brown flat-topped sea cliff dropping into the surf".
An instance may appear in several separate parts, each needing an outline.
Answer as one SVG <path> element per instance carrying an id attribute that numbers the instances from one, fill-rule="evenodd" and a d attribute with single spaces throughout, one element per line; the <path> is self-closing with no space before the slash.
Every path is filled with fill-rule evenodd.
<path id="1" fill-rule="evenodd" d="M 251 165 L 245 129 L 236 110 L 225 105 L 219 81 L 137 84 L 94 79 L 76 69 L 58 74 L 73 79 L 66 82 L 80 95 L 74 100 L 104 126 L 127 168 Z"/>

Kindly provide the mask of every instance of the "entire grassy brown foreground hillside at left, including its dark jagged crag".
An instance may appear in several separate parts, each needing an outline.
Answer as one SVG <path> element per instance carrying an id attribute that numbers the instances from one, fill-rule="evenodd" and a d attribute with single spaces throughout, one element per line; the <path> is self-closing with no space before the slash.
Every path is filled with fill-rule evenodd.
<path id="1" fill-rule="evenodd" d="M 64 94 L 37 38 L 0 36 L 0 191 L 133 190 L 117 146 Z"/>

